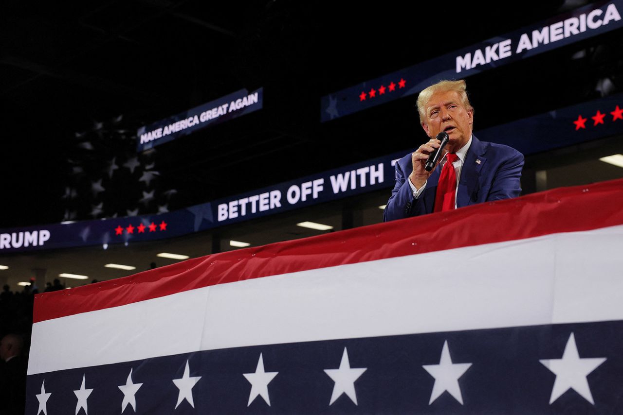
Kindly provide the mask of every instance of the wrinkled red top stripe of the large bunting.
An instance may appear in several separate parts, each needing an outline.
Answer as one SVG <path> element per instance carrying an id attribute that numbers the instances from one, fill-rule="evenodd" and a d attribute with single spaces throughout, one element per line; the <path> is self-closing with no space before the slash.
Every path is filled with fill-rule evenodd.
<path id="1" fill-rule="evenodd" d="M 379 212 L 380 214 L 380 212 Z M 200 287 L 623 224 L 623 179 L 189 259 L 36 296 L 34 322 Z"/>

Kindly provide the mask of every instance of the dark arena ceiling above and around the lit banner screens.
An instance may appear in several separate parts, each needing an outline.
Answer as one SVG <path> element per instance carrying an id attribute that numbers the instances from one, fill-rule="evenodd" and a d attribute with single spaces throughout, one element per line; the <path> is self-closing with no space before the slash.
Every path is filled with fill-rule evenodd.
<path id="1" fill-rule="evenodd" d="M 4 1 L 0 227 L 175 210 L 415 147 L 415 96 L 328 123 L 320 97 L 582 4 Z M 470 77 L 476 128 L 591 99 L 606 75 L 620 91 L 621 38 Z M 140 126 L 260 87 L 262 110 L 136 154 Z"/>

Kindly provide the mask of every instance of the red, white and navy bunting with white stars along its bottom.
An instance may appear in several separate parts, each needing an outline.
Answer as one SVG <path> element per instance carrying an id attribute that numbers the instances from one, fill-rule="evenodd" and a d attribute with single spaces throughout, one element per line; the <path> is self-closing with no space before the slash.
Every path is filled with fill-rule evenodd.
<path id="1" fill-rule="evenodd" d="M 623 180 L 36 297 L 26 414 L 623 413 Z"/>

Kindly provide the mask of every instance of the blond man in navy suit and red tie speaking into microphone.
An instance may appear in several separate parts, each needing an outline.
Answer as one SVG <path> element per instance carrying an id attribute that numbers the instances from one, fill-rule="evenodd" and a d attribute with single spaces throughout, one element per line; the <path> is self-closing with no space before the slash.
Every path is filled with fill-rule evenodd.
<path id="1" fill-rule="evenodd" d="M 523 155 L 472 134 L 473 108 L 464 80 L 429 86 L 417 97 L 417 111 L 430 140 L 396 162 L 396 185 L 384 221 L 520 194 Z M 448 135 L 441 149 L 445 134 L 440 133 Z M 441 152 L 437 165 L 427 171 L 427 161 L 437 151 Z"/>

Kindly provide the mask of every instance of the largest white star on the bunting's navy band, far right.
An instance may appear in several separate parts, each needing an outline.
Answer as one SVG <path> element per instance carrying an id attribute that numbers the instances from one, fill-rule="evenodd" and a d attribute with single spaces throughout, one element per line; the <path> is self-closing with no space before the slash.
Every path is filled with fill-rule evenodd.
<path id="1" fill-rule="evenodd" d="M 571 333 L 564 347 L 563 357 L 560 359 L 539 360 L 556 375 L 554 387 L 551 389 L 549 404 L 553 403 L 568 389 L 573 389 L 584 399 L 595 404 L 592 400 L 591 388 L 586 376 L 606 361 L 605 357 L 581 358 L 576 346 L 576 338 Z"/>

